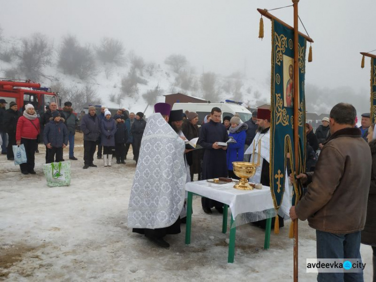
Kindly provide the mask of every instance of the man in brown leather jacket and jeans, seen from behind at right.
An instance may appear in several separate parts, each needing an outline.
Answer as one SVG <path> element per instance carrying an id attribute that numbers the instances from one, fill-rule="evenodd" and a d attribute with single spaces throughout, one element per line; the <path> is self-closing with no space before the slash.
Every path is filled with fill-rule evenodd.
<path id="1" fill-rule="evenodd" d="M 315 172 L 296 177 L 310 184 L 304 197 L 291 207 L 290 217 L 308 219 L 309 226 L 316 229 L 317 259 L 361 262 L 360 231 L 365 224 L 372 159 L 360 129 L 354 128 L 355 116 L 350 104 L 339 103 L 331 109 L 331 136 L 323 144 Z M 362 268 L 353 270 L 357 272 L 319 272 L 317 280 L 363 281 Z"/>

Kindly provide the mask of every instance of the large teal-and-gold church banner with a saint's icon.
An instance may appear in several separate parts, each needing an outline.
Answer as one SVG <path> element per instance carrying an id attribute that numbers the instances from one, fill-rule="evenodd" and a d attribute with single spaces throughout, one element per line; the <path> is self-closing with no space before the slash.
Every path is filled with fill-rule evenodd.
<path id="1" fill-rule="evenodd" d="M 299 171 L 305 170 L 305 54 L 306 39 L 299 36 L 299 76 L 294 77 L 294 32 L 272 20 L 272 71 L 271 71 L 271 138 L 270 138 L 270 189 L 274 207 L 282 204 L 285 189 L 287 163 L 295 168 L 294 118 L 299 121 Z M 293 84 L 299 85 L 298 104 L 294 104 Z M 299 115 L 294 116 L 294 107 Z M 290 156 L 290 158 L 288 158 Z M 293 171 L 295 169 L 292 169 Z M 288 188 L 287 188 L 288 189 Z M 295 205 L 301 195 L 301 187 L 294 183 Z"/>

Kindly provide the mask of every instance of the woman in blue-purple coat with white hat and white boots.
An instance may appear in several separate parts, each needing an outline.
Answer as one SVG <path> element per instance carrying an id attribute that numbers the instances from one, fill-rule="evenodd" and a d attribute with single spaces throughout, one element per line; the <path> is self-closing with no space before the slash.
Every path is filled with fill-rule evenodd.
<path id="1" fill-rule="evenodd" d="M 116 122 L 110 111 L 104 112 L 101 120 L 101 144 L 103 146 L 103 166 L 111 167 L 112 147 L 115 146 Z"/>

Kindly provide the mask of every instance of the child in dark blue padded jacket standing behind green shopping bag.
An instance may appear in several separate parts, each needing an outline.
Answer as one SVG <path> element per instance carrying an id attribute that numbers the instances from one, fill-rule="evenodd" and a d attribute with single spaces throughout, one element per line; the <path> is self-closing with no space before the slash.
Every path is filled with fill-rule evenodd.
<path id="1" fill-rule="evenodd" d="M 50 122 L 48 122 L 43 131 L 43 140 L 48 150 L 46 164 L 63 161 L 63 148 L 68 144 L 68 129 L 64 124 L 64 118 L 60 116 L 59 111 L 54 111 Z"/>

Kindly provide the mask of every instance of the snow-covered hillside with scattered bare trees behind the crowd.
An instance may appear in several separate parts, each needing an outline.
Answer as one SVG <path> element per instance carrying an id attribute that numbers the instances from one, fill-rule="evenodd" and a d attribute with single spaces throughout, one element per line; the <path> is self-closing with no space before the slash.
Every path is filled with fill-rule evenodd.
<path id="1" fill-rule="evenodd" d="M 18 78 L 28 79 L 23 69 L 20 67 L 20 59 L 17 56 L 12 55 L 15 49 L 21 49 L 23 46 L 23 39 L 21 38 L 4 38 L 0 45 L 0 77 L 3 78 Z M 63 70 L 58 67 L 59 50 L 61 43 L 54 42 L 53 51 L 51 56 L 51 63 L 44 66 L 41 69 L 42 75 L 35 82 L 41 83 L 46 87 L 51 87 L 52 91 L 59 91 L 62 96 L 63 102 L 71 97 L 65 93 L 67 89 L 84 89 L 85 86 L 89 86 L 90 90 L 97 94 L 101 100 L 101 104 L 112 108 L 126 108 L 129 111 L 138 112 L 145 111 L 146 115 L 150 115 L 153 112 L 152 105 L 148 105 L 143 94 L 147 91 L 157 90 L 154 94 L 156 97 L 152 97 L 150 100 L 155 102 L 164 102 L 164 94 L 171 93 L 184 93 L 196 97 L 206 98 L 211 102 L 220 102 L 225 99 L 233 99 L 242 101 L 243 105 L 249 107 L 255 107 L 257 105 L 270 102 L 270 84 L 268 81 L 260 82 L 255 81 L 253 78 L 246 78 L 240 72 L 230 76 L 224 76 L 221 74 L 212 74 L 215 81 L 213 82 L 212 98 L 208 98 L 208 91 L 205 91 L 203 85 L 203 74 L 194 71 L 194 67 L 189 65 L 184 66 L 179 73 L 172 71 L 171 67 L 163 62 L 153 62 L 155 66 L 152 72 L 147 71 L 147 63 L 145 62 L 144 70 L 137 71 L 137 75 L 143 83 L 137 83 L 138 93 L 126 95 L 122 91 L 122 79 L 127 77 L 128 73 L 132 69 L 132 64 L 129 62 L 123 66 L 117 66 L 115 64 L 103 64 L 97 58 L 96 72 L 92 77 L 82 80 L 77 76 L 64 74 Z M 92 48 L 93 49 L 93 48 Z M 10 58 L 6 62 L 4 54 L 8 54 Z M 137 54 L 142 56 L 145 54 Z M 149 55 L 149 54 L 148 54 Z M 124 54 L 127 58 L 129 56 L 136 56 L 133 51 L 128 54 Z M 143 60 L 143 59 L 142 59 Z M 182 88 L 183 82 L 181 79 L 189 80 L 190 86 Z M 33 79 L 32 79 L 33 80 Z M 121 97 L 119 97 L 121 95 Z M 119 98 L 118 98 L 119 97 Z M 149 100 L 149 101 L 150 101 Z M 81 104 L 80 104 L 81 105 Z M 77 106 L 78 107 L 78 106 Z M 76 111 L 80 110 L 79 108 Z"/>

